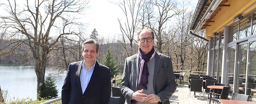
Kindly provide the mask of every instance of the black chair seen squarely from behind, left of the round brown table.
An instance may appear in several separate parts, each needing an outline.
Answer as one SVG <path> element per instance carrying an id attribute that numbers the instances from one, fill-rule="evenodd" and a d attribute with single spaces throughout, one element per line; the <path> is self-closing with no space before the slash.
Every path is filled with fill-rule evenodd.
<path id="1" fill-rule="evenodd" d="M 200 97 L 201 97 L 201 92 L 202 92 L 202 83 L 203 80 L 200 79 L 191 79 L 191 85 L 190 85 L 190 91 L 189 91 L 189 97 L 191 96 L 191 91 L 194 91 L 194 95 L 196 92 L 200 92 Z"/>

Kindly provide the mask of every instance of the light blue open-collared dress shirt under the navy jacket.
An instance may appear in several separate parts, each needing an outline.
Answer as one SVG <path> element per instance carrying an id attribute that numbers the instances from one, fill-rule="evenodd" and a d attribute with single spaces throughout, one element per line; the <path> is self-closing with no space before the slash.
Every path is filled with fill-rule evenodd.
<path id="1" fill-rule="evenodd" d="M 96 60 L 94 62 L 94 65 L 89 70 L 87 70 L 85 68 L 84 60 L 83 60 L 82 69 L 81 69 L 81 73 L 80 73 L 80 82 L 81 82 L 82 93 L 85 92 L 85 89 L 87 88 L 88 83 L 92 77 L 95 63 L 96 63 Z"/>

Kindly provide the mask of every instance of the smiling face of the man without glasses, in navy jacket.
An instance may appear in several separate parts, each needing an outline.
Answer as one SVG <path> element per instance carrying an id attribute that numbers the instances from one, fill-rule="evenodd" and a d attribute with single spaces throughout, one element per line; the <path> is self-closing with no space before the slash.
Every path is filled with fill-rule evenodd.
<path id="1" fill-rule="evenodd" d="M 83 45 L 83 47 L 84 50 L 82 54 L 85 62 L 94 62 L 96 57 L 98 56 L 98 52 L 96 52 L 96 44 L 85 44 Z"/>

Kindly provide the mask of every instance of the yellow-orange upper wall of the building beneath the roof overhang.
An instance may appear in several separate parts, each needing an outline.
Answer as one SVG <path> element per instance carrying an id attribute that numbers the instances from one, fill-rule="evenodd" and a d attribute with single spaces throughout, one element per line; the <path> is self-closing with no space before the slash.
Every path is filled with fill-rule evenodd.
<path id="1" fill-rule="evenodd" d="M 229 7 L 221 7 L 221 12 L 216 14 L 216 16 L 213 18 L 210 25 L 206 27 L 206 37 L 211 37 L 211 35 L 214 34 L 214 32 L 218 32 L 217 30 L 222 28 L 225 24 L 230 25 L 233 23 L 233 19 L 243 12 L 243 10 L 247 9 L 249 6 L 251 6 L 253 3 L 255 3 L 256 0 L 229 0 L 225 4 L 230 4 Z M 251 6 L 249 9 L 247 9 L 242 15 L 250 12 L 252 9 L 256 8 L 256 4 Z M 223 30 L 223 29 L 221 29 Z M 219 31 L 221 31 L 219 30 Z"/>

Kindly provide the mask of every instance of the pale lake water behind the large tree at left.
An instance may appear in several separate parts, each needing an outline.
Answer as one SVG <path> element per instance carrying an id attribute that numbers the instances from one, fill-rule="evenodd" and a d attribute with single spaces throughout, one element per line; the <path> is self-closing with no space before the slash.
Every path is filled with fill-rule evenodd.
<path id="1" fill-rule="evenodd" d="M 46 69 L 49 73 L 58 73 L 58 70 Z M 58 96 L 61 96 L 61 87 L 66 76 L 66 71 L 56 76 Z M 0 64 L 0 86 L 2 90 L 8 90 L 9 98 L 36 99 L 36 74 L 33 66 L 20 66 L 15 64 Z M 10 100 L 8 100 L 10 101 Z"/>

